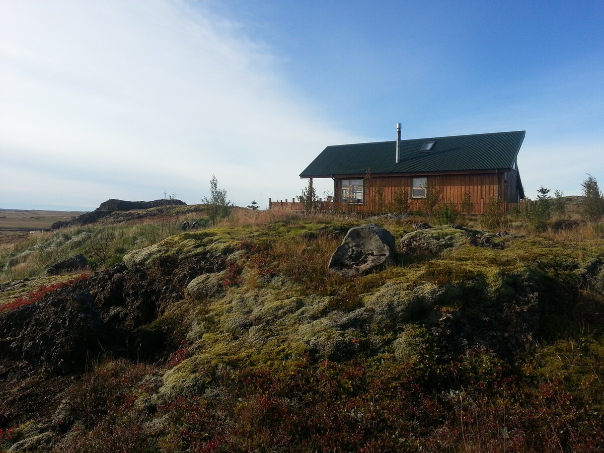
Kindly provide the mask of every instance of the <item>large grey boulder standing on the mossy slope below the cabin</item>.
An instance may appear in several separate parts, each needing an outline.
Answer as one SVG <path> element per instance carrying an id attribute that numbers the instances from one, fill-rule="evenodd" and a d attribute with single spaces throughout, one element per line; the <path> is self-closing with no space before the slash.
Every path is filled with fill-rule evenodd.
<path id="1" fill-rule="evenodd" d="M 358 277 L 383 269 L 396 257 L 396 240 L 375 223 L 350 228 L 329 260 L 329 269 L 345 277 Z"/>

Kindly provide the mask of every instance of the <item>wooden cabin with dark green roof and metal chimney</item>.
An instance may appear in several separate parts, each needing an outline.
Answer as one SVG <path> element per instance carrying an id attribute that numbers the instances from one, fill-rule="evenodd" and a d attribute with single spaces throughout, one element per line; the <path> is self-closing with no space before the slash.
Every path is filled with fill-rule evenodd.
<path id="1" fill-rule="evenodd" d="M 397 125 L 398 126 L 398 125 Z M 525 131 L 328 146 L 300 178 L 332 178 L 333 201 L 320 208 L 365 213 L 426 212 L 430 199 L 458 211 L 505 210 L 524 199 L 516 158 Z M 269 201 L 269 208 L 301 209 Z"/>

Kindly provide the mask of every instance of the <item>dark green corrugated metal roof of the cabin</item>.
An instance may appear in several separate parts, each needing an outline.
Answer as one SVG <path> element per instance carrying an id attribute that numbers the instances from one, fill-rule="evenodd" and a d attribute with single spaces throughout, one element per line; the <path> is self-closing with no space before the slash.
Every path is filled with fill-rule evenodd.
<path id="1" fill-rule="evenodd" d="M 300 178 L 365 175 L 368 169 L 374 175 L 511 169 L 524 134 L 524 130 L 517 130 L 401 140 L 398 164 L 395 140 L 328 146 Z M 434 146 L 421 152 L 426 141 L 434 141 Z"/>

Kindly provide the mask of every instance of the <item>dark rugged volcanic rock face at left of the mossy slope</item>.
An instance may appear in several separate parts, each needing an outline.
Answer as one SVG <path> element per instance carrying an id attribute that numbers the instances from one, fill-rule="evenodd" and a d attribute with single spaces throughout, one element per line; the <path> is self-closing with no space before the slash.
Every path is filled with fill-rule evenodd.
<path id="1" fill-rule="evenodd" d="M 205 255 L 151 269 L 115 265 L 0 314 L 0 376 L 77 374 L 101 352 L 158 358 L 164 332 L 150 324 L 184 298 L 193 278 L 222 271 L 225 259 Z"/>

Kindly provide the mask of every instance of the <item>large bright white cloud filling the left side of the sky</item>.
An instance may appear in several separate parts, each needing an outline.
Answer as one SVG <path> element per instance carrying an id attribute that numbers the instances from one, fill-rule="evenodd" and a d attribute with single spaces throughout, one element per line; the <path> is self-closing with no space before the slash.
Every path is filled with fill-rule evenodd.
<path id="1" fill-rule="evenodd" d="M 236 204 L 265 205 L 299 194 L 324 146 L 359 140 L 310 114 L 268 49 L 198 4 L 0 11 L 2 207 L 91 209 L 164 190 L 195 203 L 213 173 Z"/>

